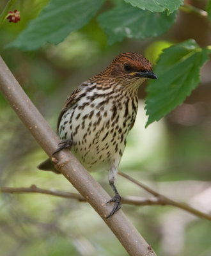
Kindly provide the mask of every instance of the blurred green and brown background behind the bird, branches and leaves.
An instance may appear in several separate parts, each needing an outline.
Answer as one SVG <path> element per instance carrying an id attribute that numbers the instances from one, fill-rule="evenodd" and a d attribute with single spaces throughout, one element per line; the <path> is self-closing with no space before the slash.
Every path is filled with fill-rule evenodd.
<path id="1" fill-rule="evenodd" d="M 36 52 L 20 52 L 4 46 L 36 17 L 48 1 L 17 1 L 17 24 L 4 22 L 0 30 L 0 53 L 25 92 L 56 131 L 59 111 L 74 88 L 102 71 L 120 52 L 139 52 L 155 65 L 164 47 L 194 38 L 201 46 L 211 44 L 206 19 L 180 12 L 168 33 L 144 41 L 127 39 L 107 45 L 95 19 L 71 33 L 59 45 L 45 45 Z M 116 1 L 107 1 L 100 12 Z M 204 8 L 206 1 L 188 1 Z M 0 2 L 3 10 L 5 0 Z M 211 211 L 211 76 L 210 61 L 201 70 L 201 84 L 166 118 L 145 129 L 145 86 L 139 89 L 139 112 L 130 132 L 120 170 L 149 184 L 171 198 Z M 168 99 L 169 100 L 169 99 Z M 36 166 L 46 158 L 3 95 L 0 94 L 1 186 L 75 189 L 54 173 Z M 111 194 L 107 173 L 92 173 Z M 116 186 L 122 196 L 148 196 L 123 177 Z M 90 205 L 50 195 L 2 193 L 0 198 L 0 255 L 127 255 L 104 221 Z M 123 205 L 123 211 L 152 244 L 157 255 L 211 255 L 211 226 L 174 207 Z"/>

